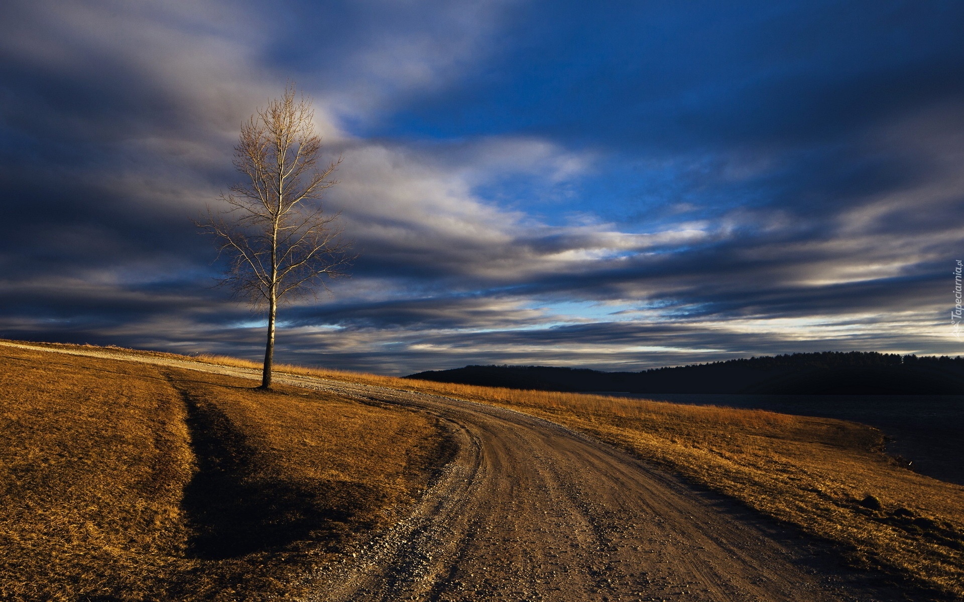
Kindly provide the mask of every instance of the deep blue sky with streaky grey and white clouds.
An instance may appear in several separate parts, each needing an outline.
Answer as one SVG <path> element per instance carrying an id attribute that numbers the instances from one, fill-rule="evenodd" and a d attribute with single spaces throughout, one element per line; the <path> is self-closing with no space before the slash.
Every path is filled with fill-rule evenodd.
<path id="1" fill-rule="evenodd" d="M 964 3 L 11 0 L 0 337 L 263 353 L 194 220 L 293 82 L 351 277 L 280 361 L 950 354 Z"/>

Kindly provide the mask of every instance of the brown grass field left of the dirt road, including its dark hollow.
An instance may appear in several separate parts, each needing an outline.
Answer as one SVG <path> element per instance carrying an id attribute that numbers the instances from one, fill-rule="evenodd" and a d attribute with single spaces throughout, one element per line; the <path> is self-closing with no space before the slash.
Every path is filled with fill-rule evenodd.
<path id="1" fill-rule="evenodd" d="M 410 411 L 0 354 L 3 600 L 296 594 L 295 575 L 390 523 L 438 462 L 436 426 Z"/>

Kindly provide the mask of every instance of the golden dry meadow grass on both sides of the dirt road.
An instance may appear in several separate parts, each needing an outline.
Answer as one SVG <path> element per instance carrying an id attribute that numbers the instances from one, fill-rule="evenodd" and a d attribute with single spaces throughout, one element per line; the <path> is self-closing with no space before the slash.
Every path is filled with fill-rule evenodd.
<path id="1" fill-rule="evenodd" d="M 407 411 L 294 388 L 259 393 L 249 381 L 193 371 L 3 353 L 0 386 L 13 400 L 4 413 L 10 469 L 0 500 L 14 509 L 0 518 L 0 537 L 13 541 L 13 554 L 0 562 L 7 588 L 0 593 L 8 597 L 31 599 L 41 575 L 48 591 L 84 584 L 92 594 L 115 587 L 106 575 L 141 592 L 159 581 L 191 583 L 210 599 L 228 586 L 290 588 L 294 573 L 285 570 L 324 563 L 354 533 L 390 522 L 440 458 L 433 425 Z M 193 359 L 258 367 L 224 356 Z M 908 470 L 869 426 L 759 409 L 278 369 L 545 418 L 831 541 L 849 563 L 903 587 L 964 598 L 964 487 Z M 219 434 L 205 443 L 191 434 L 201 431 Z M 373 458 L 372 449 L 380 454 Z M 192 506 L 191 495 L 210 502 L 205 486 L 254 500 L 235 504 L 241 517 L 252 504 L 260 508 L 258 492 L 268 489 L 291 491 L 301 502 L 281 513 L 284 529 L 264 526 L 247 555 L 228 557 L 212 542 L 229 540 L 231 525 L 203 518 L 223 509 Z M 308 506 L 298 505 L 306 499 Z"/>

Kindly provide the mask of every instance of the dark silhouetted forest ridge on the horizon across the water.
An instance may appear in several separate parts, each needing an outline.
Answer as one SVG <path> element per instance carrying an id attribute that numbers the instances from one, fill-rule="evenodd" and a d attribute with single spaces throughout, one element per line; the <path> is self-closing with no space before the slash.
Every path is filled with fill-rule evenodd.
<path id="1" fill-rule="evenodd" d="M 964 358 L 823 352 L 731 359 L 642 372 L 549 366 L 466 366 L 407 379 L 511 389 L 771 395 L 960 395 Z"/>

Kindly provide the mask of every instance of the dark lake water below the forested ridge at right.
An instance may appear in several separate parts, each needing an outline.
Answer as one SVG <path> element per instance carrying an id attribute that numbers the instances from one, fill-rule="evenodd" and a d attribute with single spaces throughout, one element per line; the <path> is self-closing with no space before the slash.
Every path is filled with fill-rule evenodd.
<path id="1" fill-rule="evenodd" d="M 964 484 L 964 395 L 604 394 L 852 420 L 885 432 L 887 451 L 912 461 L 915 471 Z"/>

